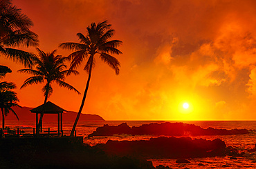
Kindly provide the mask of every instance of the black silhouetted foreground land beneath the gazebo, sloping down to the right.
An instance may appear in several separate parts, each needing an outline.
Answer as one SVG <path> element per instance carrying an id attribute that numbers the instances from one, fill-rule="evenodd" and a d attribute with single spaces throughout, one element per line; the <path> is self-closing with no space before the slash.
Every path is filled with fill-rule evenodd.
<path id="1" fill-rule="evenodd" d="M 0 139 L 0 168 L 154 167 L 143 158 L 108 155 L 79 139 L 34 137 Z"/>

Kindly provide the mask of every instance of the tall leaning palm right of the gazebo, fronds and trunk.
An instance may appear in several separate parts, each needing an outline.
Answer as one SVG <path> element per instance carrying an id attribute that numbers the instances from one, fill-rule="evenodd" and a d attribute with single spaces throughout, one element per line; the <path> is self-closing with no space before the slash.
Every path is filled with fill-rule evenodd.
<path id="1" fill-rule="evenodd" d="M 71 136 L 74 135 L 77 121 L 84 106 L 84 101 L 86 99 L 86 94 L 91 79 L 91 70 L 95 66 L 95 54 L 98 54 L 102 61 L 116 70 L 116 74 L 119 74 L 120 63 L 118 59 L 111 56 L 111 54 L 122 54 L 122 52 L 117 49 L 117 47 L 122 44 L 122 41 L 109 40 L 111 37 L 113 37 L 114 32 L 115 30 L 111 29 L 111 24 L 108 24 L 107 21 L 103 21 L 98 24 L 91 23 L 91 26 L 87 27 L 86 36 L 84 36 L 82 33 L 77 33 L 77 37 L 80 40 L 80 43 L 67 42 L 60 44 L 60 48 L 75 50 L 75 52 L 69 54 L 68 56 L 68 58 L 72 60 L 70 69 L 73 70 L 77 68 L 77 66 L 82 64 L 82 61 L 87 59 L 84 70 L 89 73 L 84 96 L 82 98 L 82 103 L 71 131 Z"/>

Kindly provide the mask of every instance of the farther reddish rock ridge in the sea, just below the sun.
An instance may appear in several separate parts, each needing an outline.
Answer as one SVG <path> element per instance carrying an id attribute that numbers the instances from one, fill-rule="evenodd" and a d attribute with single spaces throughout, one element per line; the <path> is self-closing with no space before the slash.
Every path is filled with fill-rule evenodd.
<path id="1" fill-rule="evenodd" d="M 201 128 L 188 123 L 150 123 L 139 127 L 129 127 L 127 123 L 118 126 L 104 125 L 99 127 L 89 137 L 93 136 L 111 136 L 111 135 L 156 135 L 156 136 L 199 136 L 199 135 L 242 135 L 248 134 L 246 129 L 214 129 Z"/>

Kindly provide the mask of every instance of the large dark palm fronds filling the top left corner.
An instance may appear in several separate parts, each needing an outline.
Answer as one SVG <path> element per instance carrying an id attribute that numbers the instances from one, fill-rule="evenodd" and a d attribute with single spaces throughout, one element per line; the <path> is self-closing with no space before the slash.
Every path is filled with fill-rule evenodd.
<path id="1" fill-rule="evenodd" d="M 21 13 L 20 8 L 12 5 L 10 0 L 0 1 L 0 53 L 25 66 L 32 66 L 33 53 L 13 48 L 38 46 L 38 36 L 29 30 L 31 26 L 33 22 Z"/>

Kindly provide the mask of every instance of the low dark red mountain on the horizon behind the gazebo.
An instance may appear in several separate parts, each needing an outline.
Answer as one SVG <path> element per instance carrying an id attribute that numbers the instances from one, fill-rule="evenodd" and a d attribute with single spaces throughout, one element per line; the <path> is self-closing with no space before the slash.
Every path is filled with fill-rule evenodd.
<path id="1" fill-rule="evenodd" d="M 13 110 L 17 113 L 19 120 L 21 121 L 35 121 L 35 113 L 30 112 L 33 108 L 28 107 L 15 107 Z M 64 112 L 63 113 L 63 121 L 75 121 L 75 117 L 77 116 L 77 112 Z M 1 119 L 1 116 L 0 116 Z M 12 112 L 6 117 L 6 120 L 17 120 L 15 115 Z M 57 115 L 44 115 L 44 121 L 57 121 Z M 104 121 L 102 117 L 99 115 L 90 115 L 90 114 L 81 114 L 79 121 Z"/>

